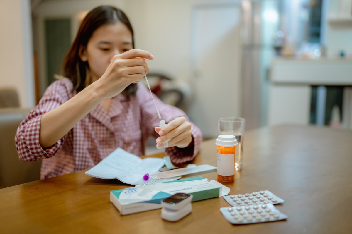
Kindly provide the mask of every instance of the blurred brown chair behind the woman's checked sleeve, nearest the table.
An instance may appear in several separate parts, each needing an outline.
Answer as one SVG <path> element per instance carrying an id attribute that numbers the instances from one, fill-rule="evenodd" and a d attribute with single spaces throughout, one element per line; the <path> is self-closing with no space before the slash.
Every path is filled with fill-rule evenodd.
<path id="1" fill-rule="evenodd" d="M 15 134 L 29 108 L 0 108 L 0 188 L 39 180 L 41 161 L 23 162 L 18 159 Z"/>

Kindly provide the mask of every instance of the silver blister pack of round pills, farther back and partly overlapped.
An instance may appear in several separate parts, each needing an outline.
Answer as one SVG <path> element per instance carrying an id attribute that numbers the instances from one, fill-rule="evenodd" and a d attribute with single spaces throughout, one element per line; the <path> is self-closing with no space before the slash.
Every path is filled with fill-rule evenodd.
<path id="1" fill-rule="evenodd" d="M 227 195 L 224 196 L 224 199 L 231 206 L 251 206 L 261 204 L 275 205 L 284 202 L 284 200 L 270 193 L 268 190 L 238 195 Z"/>

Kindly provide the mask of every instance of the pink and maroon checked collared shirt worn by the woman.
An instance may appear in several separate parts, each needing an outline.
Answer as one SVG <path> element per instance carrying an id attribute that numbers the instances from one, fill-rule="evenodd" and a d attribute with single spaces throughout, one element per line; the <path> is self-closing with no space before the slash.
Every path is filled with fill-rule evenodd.
<path id="1" fill-rule="evenodd" d="M 55 145 L 43 149 L 39 144 L 40 120 L 43 114 L 76 95 L 77 91 L 72 92 L 72 88 L 72 82 L 67 78 L 52 83 L 37 107 L 29 112 L 17 129 L 15 144 L 19 159 L 42 159 L 40 179 L 92 168 L 118 147 L 142 156 L 145 154 L 148 137 L 159 136 L 154 128 L 159 126 L 160 119 L 150 92 L 138 84 L 136 95 L 115 96 L 108 113 L 101 105 L 96 106 Z M 179 116 L 185 116 L 189 121 L 180 109 L 166 105 L 155 95 L 154 99 L 166 123 Z M 165 148 L 165 153 L 170 156 L 172 162 L 193 160 L 198 153 L 202 134 L 194 123 L 191 123 L 191 131 L 191 146 Z"/>

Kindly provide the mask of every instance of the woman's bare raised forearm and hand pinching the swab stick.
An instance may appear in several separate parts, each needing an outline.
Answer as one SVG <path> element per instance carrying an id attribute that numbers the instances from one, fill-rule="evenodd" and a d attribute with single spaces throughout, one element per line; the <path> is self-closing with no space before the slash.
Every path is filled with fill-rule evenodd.
<path id="1" fill-rule="evenodd" d="M 131 83 L 142 81 L 149 72 L 145 59 L 153 58 L 151 53 L 140 49 L 115 55 L 100 79 L 42 116 L 40 145 L 43 148 L 54 145 L 102 100 L 118 95 Z"/>

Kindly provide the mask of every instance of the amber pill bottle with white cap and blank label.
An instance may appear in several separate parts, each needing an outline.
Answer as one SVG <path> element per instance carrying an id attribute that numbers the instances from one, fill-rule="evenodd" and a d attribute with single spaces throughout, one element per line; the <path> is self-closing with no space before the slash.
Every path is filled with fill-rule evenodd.
<path id="1" fill-rule="evenodd" d="M 215 145 L 218 148 L 218 181 L 233 182 L 235 180 L 236 137 L 219 135 Z"/>

